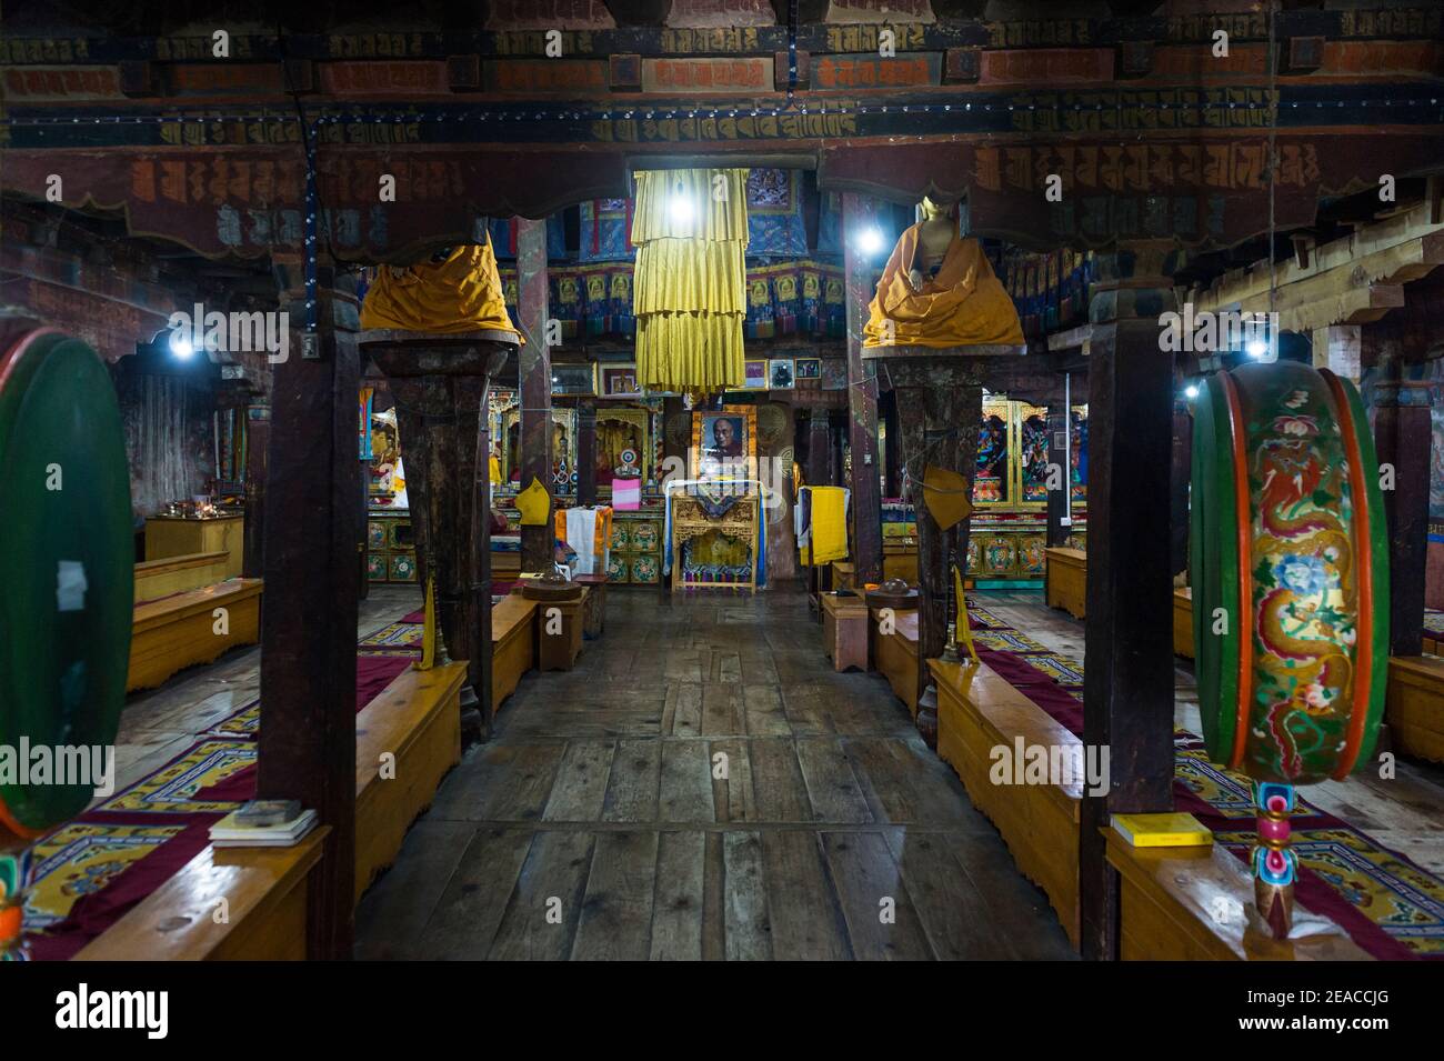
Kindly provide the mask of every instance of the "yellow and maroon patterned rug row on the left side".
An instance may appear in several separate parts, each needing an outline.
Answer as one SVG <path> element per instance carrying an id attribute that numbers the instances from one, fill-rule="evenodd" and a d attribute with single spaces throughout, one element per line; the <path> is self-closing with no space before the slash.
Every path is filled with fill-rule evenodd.
<path id="1" fill-rule="evenodd" d="M 419 616 L 361 638 L 357 712 L 420 655 Z M 260 719 L 251 700 L 160 769 L 36 840 L 23 876 L 29 959 L 74 957 L 199 855 L 215 821 L 254 798 Z"/>

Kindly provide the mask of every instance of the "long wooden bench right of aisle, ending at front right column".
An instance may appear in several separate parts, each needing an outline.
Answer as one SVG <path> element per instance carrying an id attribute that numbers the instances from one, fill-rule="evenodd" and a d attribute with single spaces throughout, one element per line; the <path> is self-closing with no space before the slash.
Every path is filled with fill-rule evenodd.
<path id="1" fill-rule="evenodd" d="M 1024 749 L 1060 748 L 1067 754 L 1080 741 L 986 664 L 928 660 L 927 665 L 937 683 L 939 758 L 962 778 L 967 798 L 998 827 L 1018 870 L 1047 894 L 1077 946 L 1082 778 L 1021 784 L 1012 777 L 1015 784 L 993 784 L 991 774 L 995 748 L 1012 764 L 1022 759 L 1017 755 L 1019 739 Z"/>

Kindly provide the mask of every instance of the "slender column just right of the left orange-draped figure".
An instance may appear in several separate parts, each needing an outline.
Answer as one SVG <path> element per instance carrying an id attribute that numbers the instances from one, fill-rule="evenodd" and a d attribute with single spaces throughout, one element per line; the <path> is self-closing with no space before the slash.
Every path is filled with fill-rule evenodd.
<path id="1" fill-rule="evenodd" d="M 546 221 L 517 218 L 517 323 L 527 344 L 517 354 L 521 381 L 521 484 L 536 478 L 552 497 L 552 351 L 547 348 Z M 521 569 L 550 569 L 552 505 L 544 527 L 521 527 Z"/>

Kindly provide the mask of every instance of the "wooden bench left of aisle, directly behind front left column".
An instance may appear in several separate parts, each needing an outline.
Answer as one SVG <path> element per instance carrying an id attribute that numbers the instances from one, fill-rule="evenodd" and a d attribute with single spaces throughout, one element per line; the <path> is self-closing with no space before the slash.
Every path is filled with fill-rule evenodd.
<path id="1" fill-rule="evenodd" d="M 357 902 L 461 762 L 465 680 L 465 661 L 407 668 L 357 715 Z"/>

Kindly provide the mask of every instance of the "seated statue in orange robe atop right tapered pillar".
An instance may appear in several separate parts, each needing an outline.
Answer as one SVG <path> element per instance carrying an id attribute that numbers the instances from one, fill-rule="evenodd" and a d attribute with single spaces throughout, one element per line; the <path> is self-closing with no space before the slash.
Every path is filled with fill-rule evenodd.
<path id="1" fill-rule="evenodd" d="M 976 240 L 950 206 L 923 199 L 923 221 L 898 237 L 868 305 L 865 346 L 1021 344 L 1022 325 Z"/>

